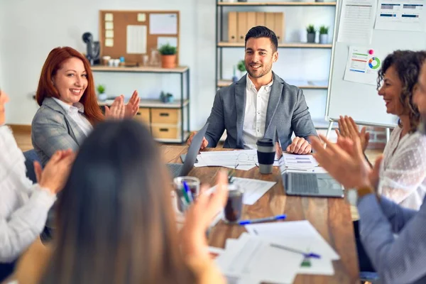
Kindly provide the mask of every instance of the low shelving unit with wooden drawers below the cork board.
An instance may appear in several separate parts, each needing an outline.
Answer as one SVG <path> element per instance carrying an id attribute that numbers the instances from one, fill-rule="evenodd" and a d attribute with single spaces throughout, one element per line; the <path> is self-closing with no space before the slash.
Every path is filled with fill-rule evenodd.
<path id="1" fill-rule="evenodd" d="M 160 67 L 109 67 L 92 66 L 93 72 L 129 72 L 129 73 L 155 73 L 160 75 L 180 75 L 180 99 L 175 102 L 163 103 L 159 99 L 141 99 L 136 119 L 139 119 L 151 129 L 153 137 L 163 143 L 184 143 L 189 136 L 190 129 L 190 68 L 178 66 L 175 68 Z M 184 94 L 186 85 L 186 96 Z M 108 105 L 99 102 L 99 105 Z M 184 111 L 187 111 L 185 119 Z M 185 131 L 186 122 L 186 131 Z M 173 137 L 172 137 L 173 136 Z"/>

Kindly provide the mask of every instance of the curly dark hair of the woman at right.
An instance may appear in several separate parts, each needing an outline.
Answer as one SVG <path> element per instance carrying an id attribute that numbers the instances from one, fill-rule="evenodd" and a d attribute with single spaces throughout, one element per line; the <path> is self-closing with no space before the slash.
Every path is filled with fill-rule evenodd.
<path id="1" fill-rule="evenodd" d="M 422 63 L 425 59 L 426 53 L 422 51 L 396 50 L 386 56 L 381 69 L 378 71 L 377 89 L 380 89 L 388 68 L 391 66 L 395 68 L 403 84 L 399 99 L 410 118 L 410 133 L 415 132 L 420 124 L 420 112 L 413 103 L 413 89 L 415 84 L 417 84 L 417 78 L 420 75 Z M 401 121 L 398 122 L 398 125 L 402 127 Z"/>

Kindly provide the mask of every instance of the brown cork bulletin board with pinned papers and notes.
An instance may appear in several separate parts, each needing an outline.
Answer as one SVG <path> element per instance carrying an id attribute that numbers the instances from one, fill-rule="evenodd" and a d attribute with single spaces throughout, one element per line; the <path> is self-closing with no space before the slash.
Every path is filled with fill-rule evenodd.
<path id="1" fill-rule="evenodd" d="M 126 62 L 143 65 L 144 55 L 169 43 L 179 58 L 179 11 L 99 11 L 101 57 L 124 56 Z M 177 62 L 179 65 L 179 62 Z"/>

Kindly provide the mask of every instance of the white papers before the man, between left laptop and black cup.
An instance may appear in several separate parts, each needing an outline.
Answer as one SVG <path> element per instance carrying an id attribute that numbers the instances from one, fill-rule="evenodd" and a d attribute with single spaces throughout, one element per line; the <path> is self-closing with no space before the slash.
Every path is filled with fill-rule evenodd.
<path id="1" fill-rule="evenodd" d="M 251 170 L 258 166 L 257 150 L 240 151 L 212 151 L 201 152 L 197 155 L 198 163 L 195 167 L 225 167 L 236 170 Z M 275 157 L 275 166 L 280 165 L 278 158 Z"/>

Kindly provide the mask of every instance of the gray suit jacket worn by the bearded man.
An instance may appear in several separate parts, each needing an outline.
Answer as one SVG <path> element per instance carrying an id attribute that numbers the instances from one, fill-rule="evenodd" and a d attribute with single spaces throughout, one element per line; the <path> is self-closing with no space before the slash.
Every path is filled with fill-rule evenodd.
<path id="1" fill-rule="evenodd" d="M 246 76 L 238 82 L 217 91 L 212 113 L 207 121 L 209 128 L 205 138 L 207 147 L 216 147 L 226 130 L 224 148 L 244 148 L 243 124 L 246 109 Z M 266 111 L 265 138 L 274 138 L 275 127 L 283 149 L 291 143 L 293 131 L 296 136 L 317 136 L 305 96 L 298 87 L 284 82 L 273 73 L 273 84 Z"/>

